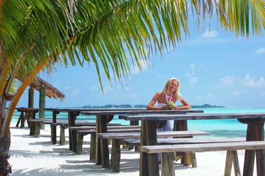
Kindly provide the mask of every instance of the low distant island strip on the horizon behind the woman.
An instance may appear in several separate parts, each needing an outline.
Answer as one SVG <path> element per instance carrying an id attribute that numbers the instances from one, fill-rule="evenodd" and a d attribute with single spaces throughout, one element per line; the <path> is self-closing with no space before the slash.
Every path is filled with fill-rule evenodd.
<path id="1" fill-rule="evenodd" d="M 74 108 L 146 108 L 146 105 L 103 105 L 103 106 L 86 105 L 86 106 L 74 107 Z M 204 105 L 191 105 L 191 108 L 225 108 L 225 107 L 204 104 Z"/>

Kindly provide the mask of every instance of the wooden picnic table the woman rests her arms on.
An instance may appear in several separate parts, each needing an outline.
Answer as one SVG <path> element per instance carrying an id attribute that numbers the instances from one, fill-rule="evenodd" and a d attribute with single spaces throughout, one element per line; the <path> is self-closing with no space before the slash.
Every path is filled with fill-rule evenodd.
<path id="1" fill-rule="evenodd" d="M 107 133 L 107 122 L 109 116 L 122 114 L 185 114 L 185 113 L 203 113 L 202 110 L 112 110 L 112 111 L 87 111 L 81 112 L 82 115 L 96 115 L 96 134 Z M 138 121 L 138 120 L 136 120 Z M 154 129 L 156 129 L 154 127 Z M 187 130 L 187 129 L 186 129 Z M 98 141 L 99 140 L 99 141 Z M 110 168 L 108 140 L 98 139 L 96 137 L 96 164 L 102 164 L 103 168 Z"/>

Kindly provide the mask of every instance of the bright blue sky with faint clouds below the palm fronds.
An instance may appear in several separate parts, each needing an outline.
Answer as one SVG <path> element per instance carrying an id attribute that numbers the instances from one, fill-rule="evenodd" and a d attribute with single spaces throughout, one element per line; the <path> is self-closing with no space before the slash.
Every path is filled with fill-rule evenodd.
<path id="1" fill-rule="evenodd" d="M 264 34 L 264 31 L 263 31 Z M 84 105 L 141 104 L 147 105 L 154 94 L 161 91 L 170 77 L 180 80 L 180 93 L 191 105 L 219 105 L 225 107 L 265 108 L 265 40 L 248 39 L 216 29 L 197 32 L 190 28 L 190 37 L 177 46 L 176 51 L 153 55 L 149 68 L 131 69 L 131 78 L 112 85 L 101 75 L 104 95 L 100 90 L 93 64 L 58 68 L 39 76 L 56 86 L 66 96 L 61 102 L 46 98 L 47 108 L 79 107 Z M 38 107 L 39 92 L 35 91 L 34 107 Z M 28 91 L 18 107 L 27 107 Z"/>

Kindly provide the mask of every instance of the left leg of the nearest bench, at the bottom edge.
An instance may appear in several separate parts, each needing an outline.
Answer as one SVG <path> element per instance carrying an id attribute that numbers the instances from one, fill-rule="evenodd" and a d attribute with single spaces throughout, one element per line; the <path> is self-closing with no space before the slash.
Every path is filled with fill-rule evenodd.
<path id="1" fill-rule="evenodd" d="M 161 176 L 175 176 L 174 153 L 162 153 Z"/>

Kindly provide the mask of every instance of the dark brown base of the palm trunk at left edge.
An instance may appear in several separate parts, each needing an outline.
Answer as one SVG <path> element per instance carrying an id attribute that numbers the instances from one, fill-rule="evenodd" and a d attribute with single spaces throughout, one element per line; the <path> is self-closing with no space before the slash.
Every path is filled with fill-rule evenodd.
<path id="1" fill-rule="evenodd" d="M 10 133 L 8 137 L 0 138 L 0 175 L 8 175 L 8 173 L 12 173 L 11 166 L 8 162 L 10 142 Z"/>

